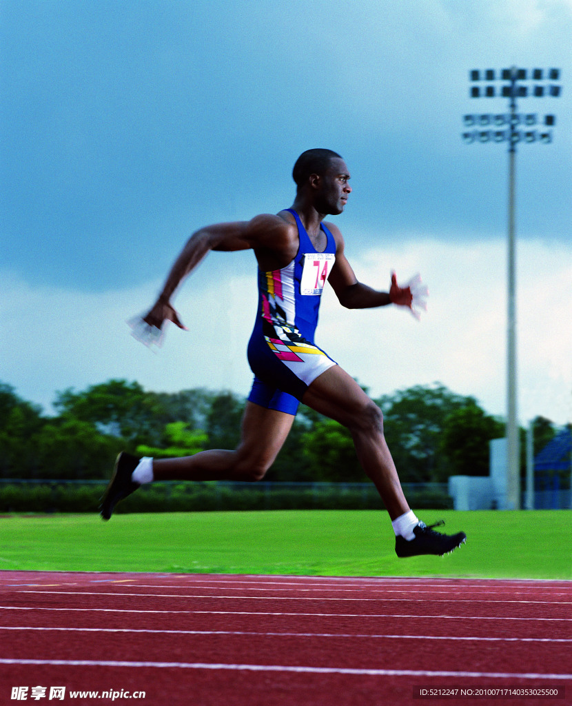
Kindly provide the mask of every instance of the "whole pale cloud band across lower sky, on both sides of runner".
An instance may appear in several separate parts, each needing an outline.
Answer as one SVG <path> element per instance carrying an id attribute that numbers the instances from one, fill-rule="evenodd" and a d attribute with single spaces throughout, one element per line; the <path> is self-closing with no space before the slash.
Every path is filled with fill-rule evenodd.
<path id="1" fill-rule="evenodd" d="M 364 237 L 363 240 L 366 240 Z M 351 244 L 350 244 L 351 245 Z M 351 247 L 349 248 L 351 249 Z M 405 310 L 341 308 L 324 293 L 317 342 L 372 395 L 444 383 L 504 414 L 506 253 L 499 241 L 463 246 L 408 240 L 404 246 L 350 256 L 360 280 L 389 287 L 419 271 L 430 287 L 429 311 L 417 322 Z M 542 414 L 572 419 L 572 248 L 525 241 L 518 246 L 518 381 L 521 423 Z M 25 399 L 49 407 L 56 390 L 109 378 L 149 390 L 206 387 L 246 395 L 246 361 L 256 309 L 252 253 L 212 253 L 181 287 L 175 304 L 189 332 L 169 328 L 154 354 L 129 335 L 125 321 L 152 303 L 161 282 L 104 293 L 30 287 L 2 275 L 0 379 Z"/>

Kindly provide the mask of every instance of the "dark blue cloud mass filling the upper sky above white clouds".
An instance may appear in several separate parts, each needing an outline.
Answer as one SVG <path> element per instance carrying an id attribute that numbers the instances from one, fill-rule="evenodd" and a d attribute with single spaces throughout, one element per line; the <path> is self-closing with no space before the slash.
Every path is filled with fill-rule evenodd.
<path id="1" fill-rule="evenodd" d="M 507 60 L 564 70 L 554 143 L 518 153 L 517 223 L 568 241 L 571 6 L 516 5 L 4 0 L 4 265 L 85 289 L 159 276 L 194 227 L 289 205 L 315 146 L 351 167 L 344 228 L 501 237 L 506 149 L 464 145 L 461 116 L 492 109 L 468 69 Z"/>

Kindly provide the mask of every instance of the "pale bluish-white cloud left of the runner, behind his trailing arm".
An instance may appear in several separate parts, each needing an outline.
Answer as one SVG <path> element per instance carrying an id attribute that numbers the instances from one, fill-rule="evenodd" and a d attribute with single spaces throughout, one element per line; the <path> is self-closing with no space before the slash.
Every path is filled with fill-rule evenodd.
<path id="1" fill-rule="evenodd" d="M 0 380 L 48 411 L 57 390 L 81 390 L 109 378 L 137 380 L 157 391 L 206 387 L 245 393 L 251 378 L 244 351 L 256 306 L 255 275 L 241 277 L 226 268 L 219 281 L 216 257 L 212 260 L 208 276 L 206 268 L 197 273 L 178 297 L 191 332 L 170 326 L 157 353 L 129 335 L 126 321 L 152 304 L 159 280 L 98 293 L 32 287 L 4 271 Z"/>

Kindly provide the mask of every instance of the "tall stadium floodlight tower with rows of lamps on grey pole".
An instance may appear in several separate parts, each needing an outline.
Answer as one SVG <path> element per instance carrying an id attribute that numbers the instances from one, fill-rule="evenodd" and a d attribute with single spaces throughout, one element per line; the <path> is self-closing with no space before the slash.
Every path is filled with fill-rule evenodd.
<path id="1" fill-rule="evenodd" d="M 508 114 L 473 114 L 463 116 L 466 143 L 509 143 L 509 257 L 508 257 L 508 330 L 506 346 L 506 509 L 521 508 L 520 453 L 516 405 L 516 277 L 514 181 L 516 145 L 552 142 L 554 115 L 519 114 L 517 98 L 558 97 L 561 86 L 559 68 L 503 68 L 496 71 L 473 69 L 469 72 L 471 98 L 509 99 Z M 468 128 L 471 128 L 470 130 Z M 536 129 L 537 128 L 537 129 Z"/>

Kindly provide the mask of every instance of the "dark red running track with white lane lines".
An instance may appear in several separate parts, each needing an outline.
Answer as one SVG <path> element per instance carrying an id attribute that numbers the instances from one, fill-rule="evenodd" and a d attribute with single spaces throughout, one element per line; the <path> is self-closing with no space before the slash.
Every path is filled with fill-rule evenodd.
<path id="1" fill-rule="evenodd" d="M 572 582 L 0 572 L 0 705 L 571 704 Z M 32 700 L 32 686 L 47 688 Z M 49 700 L 51 686 L 66 686 Z M 559 698 L 414 698 L 555 688 Z M 566 696 L 564 696 L 564 688 Z"/>

